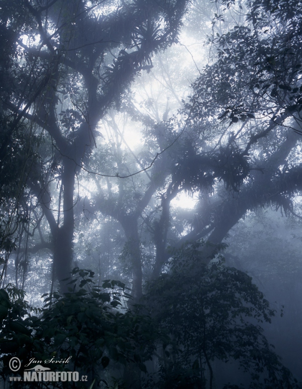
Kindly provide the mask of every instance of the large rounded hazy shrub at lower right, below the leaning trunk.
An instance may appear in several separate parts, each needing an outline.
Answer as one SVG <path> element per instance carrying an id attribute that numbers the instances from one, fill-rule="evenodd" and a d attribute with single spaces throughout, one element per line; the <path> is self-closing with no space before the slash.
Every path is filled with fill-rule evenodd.
<path id="1" fill-rule="evenodd" d="M 182 369 L 183 376 L 195 377 L 192 387 L 211 388 L 212 362 L 233 359 L 250 373 L 251 387 L 291 387 L 290 372 L 260 326 L 275 315 L 269 302 L 251 277 L 225 266 L 221 255 L 206 265 L 204 250 L 203 242 L 180 250 L 171 271 L 148 286 L 146 304 L 173 340 L 169 347 L 163 345 L 161 380 L 174 377 L 169 387 L 183 387 Z"/>

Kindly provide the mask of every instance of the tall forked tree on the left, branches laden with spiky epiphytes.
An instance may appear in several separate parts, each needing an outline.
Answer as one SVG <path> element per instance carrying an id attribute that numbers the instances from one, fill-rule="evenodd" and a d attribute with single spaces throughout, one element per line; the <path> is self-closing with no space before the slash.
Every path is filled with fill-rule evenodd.
<path id="1" fill-rule="evenodd" d="M 175 42 L 186 3 L 16 0 L 1 9 L 8 50 L 15 47 L 3 109 L 34 123 L 50 142 L 29 186 L 49 223 L 59 280 L 71 268 L 75 177 L 97 125 L 135 75 L 152 67 L 153 54 Z M 54 179 L 61 204 L 51 194 Z"/>

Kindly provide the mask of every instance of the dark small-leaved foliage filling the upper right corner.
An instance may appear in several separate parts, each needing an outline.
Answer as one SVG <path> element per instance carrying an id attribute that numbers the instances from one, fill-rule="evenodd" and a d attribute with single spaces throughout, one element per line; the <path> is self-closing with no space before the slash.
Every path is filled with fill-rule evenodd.
<path id="1" fill-rule="evenodd" d="M 193 116 L 213 115 L 230 125 L 255 116 L 299 117 L 301 10 L 299 2 L 283 3 L 250 3 L 245 22 L 212 41 L 216 61 L 193 83 Z"/>

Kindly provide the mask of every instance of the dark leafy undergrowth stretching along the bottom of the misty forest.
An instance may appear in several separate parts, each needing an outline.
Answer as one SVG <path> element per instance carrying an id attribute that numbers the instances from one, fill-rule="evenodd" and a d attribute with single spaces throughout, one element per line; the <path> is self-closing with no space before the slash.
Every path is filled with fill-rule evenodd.
<path id="1" fill-rule="evenodd" d="M 78 371 L 87 383 L 40 381 L 23 387 L 212 388 L 213 361 L 234 359 L 250 372 L 250 388 L 295 387 L 259 326 L 271 321 L 274 310 L 251 277 L 226 267 L 221 256 L 202 264 L 202 246 L 193 244 L 174 256 L 171 273 L 148 286 L 145 306 L 132 305 L 120 281 L 105 280 L 98 287 L 94 272 L 79 268 L 72 271 L 69 292 L 47 295 L 40 309 L 31 308 L 13 285 L 1 289 L 3 380 L 23 379 L 37 363 L 55 360 L 68 362 L 51 364 L 52 370 Z M 154 353 L 158 371 L 147 371 Z M 22 361 L 15 375 L 13 357 Z"/>

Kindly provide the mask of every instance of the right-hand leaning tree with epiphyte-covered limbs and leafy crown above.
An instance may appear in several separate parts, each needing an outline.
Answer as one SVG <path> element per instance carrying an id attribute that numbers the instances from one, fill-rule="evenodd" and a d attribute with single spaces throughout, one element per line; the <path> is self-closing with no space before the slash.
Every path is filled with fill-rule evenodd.
<path id="1" fill-rule="evenodd" d="M 177 139 L 177 151 L 175 147 L 170 153 L 166 150 L 165 162 L 158 161 L 163 175 L 154 192 L 161 199 L 158 220 L 154 209 L 141 219 L 155 242 L 155 277 L 171 255 L 169 246 L 201 238 L 219 243 L 248 211 L 258 207 L 275 205 L 292 212 L 292 198 L 302 189 L 301 167 L 295 157 L 302 107 L 300 5 L 292 2 L 280 8 L 253 2 L 235 5 L 233 11 L 231 3 L 226 7 L 239 12 L 240 18 L 234 18 L 235 26 L 228 32 L 221 34 L 219 27 L 215 34 L 213 27 L 209 40 L 215 55 L 192 85 L 179 129 L 169 131 L 169 123 L 155 123 L 131 106 L 132 116 L 152 128 L 149 144 L 153 147 L 163 150 Z M 213 20 L 217 19 L 221 21 L 215 14 Z M 153 169 L 158 178 L 156 163 Z M 151 192 L 150 186 L 145 196 Z M 170 202 L 179 192 L 197 193 L 200 201 L 194 217 L 185 221 L 190 230 L 183 221 L 177 237 L 172 234 Z M 126 206 L 123 212 L 130 217 L 129 204 L 123 199 L 121 194 L 120 202 L 111 198 L 111 205 L 115 210 Z M 100 209 L 109 212 L 108 204 Z M 124 225 L 129 234 L 129 221 Z"/>

